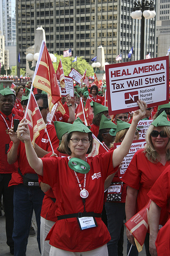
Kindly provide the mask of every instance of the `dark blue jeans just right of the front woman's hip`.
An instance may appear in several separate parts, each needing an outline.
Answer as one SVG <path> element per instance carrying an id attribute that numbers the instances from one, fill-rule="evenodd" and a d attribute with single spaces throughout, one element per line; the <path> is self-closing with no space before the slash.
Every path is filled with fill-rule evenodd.
<path id="1" fill-rule="evenodd" d="M 111 236 L 111 240 L 107 243 L 108 252 L 109 256 L 117 256 L 117 243 L 120 239 L 120 232 L 125 219 L 125 203 L 106 202 L 105 208 L 108 220 L 108 230 Z"/>

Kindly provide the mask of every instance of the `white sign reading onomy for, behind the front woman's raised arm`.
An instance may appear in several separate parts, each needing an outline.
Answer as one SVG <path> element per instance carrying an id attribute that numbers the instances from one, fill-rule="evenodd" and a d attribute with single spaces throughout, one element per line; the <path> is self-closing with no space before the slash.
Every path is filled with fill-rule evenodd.
<path id="1" fill-rule="evenodd" d="M 114 143 L 114 149 L 119 147 L 121 143 Z M 129 153 L 124 157 L 124 160 L 122 161 L 122 166 L 119 168 L 118 170 L 118 176 L 121 178 L 125 172 L 126 169 L 128 168 L 132 157 L 134 156 L 134 154 L 140 150 L 140 148 L 143 148 L 144 145 L 146 144 L 145 140 L 134 140 L 132 142 L 132 145 L 130 147 Z"/>

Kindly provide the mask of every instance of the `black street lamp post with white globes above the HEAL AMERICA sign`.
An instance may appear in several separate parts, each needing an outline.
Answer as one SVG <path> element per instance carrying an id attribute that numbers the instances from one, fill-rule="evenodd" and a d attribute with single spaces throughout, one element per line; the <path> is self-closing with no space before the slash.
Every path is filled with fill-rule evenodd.
<path id="1" fill-rule="evenodd" d="M 141 0 L 134 2 L 134 8 L 131 13 L 133 19 L 141 19 L 141 33 L 140 33 L 140 59 L 144 59 L 144 22 L 145 18 L 154 18 L 156 15 L 154 2 Z"/>

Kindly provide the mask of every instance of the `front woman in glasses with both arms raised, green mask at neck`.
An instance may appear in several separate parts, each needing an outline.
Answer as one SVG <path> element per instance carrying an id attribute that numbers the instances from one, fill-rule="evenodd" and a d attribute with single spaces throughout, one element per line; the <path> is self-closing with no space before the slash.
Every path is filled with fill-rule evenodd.
<path id="1" fill-rule="evenodd" d="M 92 150 L 92 133 L 75 120 L 65 140 L 68 158 L 38 158 L 30 140 L 25 119 L 18 125 L 18 138 L 25 142 L 27 159 L 42 182 L 50 185 L 57 200 L 57 217 L 47 239 L 52 245 L 50 255 L 107 256 L 110 234 L 102 222 L 104 182 L 115 173 L 128 154 L 138 121 L 145 115 L 147 105 L 137 101 L 133 122 L 122 144 L 111 152 L 86 158 Z M 49 172 L 50 170 L 50 172 Z"/>

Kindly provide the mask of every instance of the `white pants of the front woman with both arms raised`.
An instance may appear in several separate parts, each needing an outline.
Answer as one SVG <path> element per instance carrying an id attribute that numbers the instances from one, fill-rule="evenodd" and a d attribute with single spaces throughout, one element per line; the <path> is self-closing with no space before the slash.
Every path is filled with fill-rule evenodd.
<path id="1" fill-rule="evenodd" d="M 49 256 L 108 256 L 107 244 L 91 251 L 71 252 L 51 246 Z"/>

